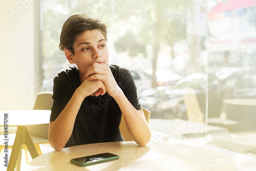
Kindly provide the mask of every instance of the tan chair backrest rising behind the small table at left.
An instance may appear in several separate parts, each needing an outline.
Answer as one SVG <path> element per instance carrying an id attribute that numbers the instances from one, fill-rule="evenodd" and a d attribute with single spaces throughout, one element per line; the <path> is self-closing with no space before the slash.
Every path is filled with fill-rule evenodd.
<path id="1" fill-rule="evenodd" d="M 52 108 L 52 92 L 44 91 L 37 94 L 34 110 L 51 110 Z"/>

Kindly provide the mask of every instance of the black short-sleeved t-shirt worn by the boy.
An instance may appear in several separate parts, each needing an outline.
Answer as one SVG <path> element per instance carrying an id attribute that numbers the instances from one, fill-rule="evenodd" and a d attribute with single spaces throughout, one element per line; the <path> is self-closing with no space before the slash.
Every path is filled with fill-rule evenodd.
<path id="1" fill-rule="evenodd" d="M 141 110 L 137 88 L 131 73 L 115 65 L 109 67 L 126 98 L 136 110 Z M 50 122 L 55 121 L 80 85 L 79 72 L 75 65 L 61 70 L 55 76 Z M 88 96 L 84 98 L 80 106 L 72 135 L 65 147 L 98 142 L 123 141 L 119 131 L 120 120 L 121 110 L 114 98 L 108 93 L 98 97 Z"/>

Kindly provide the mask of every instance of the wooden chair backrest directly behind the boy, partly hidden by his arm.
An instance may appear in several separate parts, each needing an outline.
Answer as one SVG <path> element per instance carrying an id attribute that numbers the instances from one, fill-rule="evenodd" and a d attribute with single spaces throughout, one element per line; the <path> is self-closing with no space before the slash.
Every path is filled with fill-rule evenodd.
<path id="1" fill-rule="evenodd" d="M 143 108 L 143 113 L 145 115 L 147 123 L 149 123 L 151 112 Z M 123 136 L 124 141 L 134 141 L 134 139 L 133 139 L 132 135 L 130 134 L 130 132 L 129 132 L 127 126 L 126 126 L 126 123 L 123 119 L 123 115 L 122 115 L 121 122 L 120 122 L 120 125 L 119 125 L 119 130 L 120 130 L 120 132 Z"/>

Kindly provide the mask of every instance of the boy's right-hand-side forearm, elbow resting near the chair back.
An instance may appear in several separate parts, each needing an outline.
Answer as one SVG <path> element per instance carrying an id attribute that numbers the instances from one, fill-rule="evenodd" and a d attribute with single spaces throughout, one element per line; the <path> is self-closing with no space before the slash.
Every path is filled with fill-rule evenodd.
<path id="1" fill-rule="evenodd" d="M 145 120 L 144 114 L 140 114 L 134 108 L 122 91 L 119 92 L 114 98 L 121 109 L 127 128 L 134 140 L 138 145 L 145 146 L 151 139 L 151 131 Z"/>

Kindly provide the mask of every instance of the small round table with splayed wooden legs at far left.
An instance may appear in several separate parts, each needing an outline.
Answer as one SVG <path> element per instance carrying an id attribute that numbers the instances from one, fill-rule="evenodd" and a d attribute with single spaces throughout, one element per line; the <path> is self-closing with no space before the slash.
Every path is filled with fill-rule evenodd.
<path id="1" fill-rule="evenodd" d="M 38 156 L 35 145 L 31 139 L 31 136 L 27 130 L 27 126 L 30 125 L 42 125 L 49 124 L 50 110 L 21 110 L 21 111 L 6 111 L 0 112 L 0 126 L 7 128 L 5 131 L 3 141 L 6 144 L 9 143 L 8 127 L 17 126 L 16 136 L 12 147 L 11 156 L 7 170 L 14 170 L 16 163 L 18 163 L 18 170 L 20 167 L 19 157 L 22 153 L 22 145 L 26 144 L 31 157 L 34 159 Z"/>

